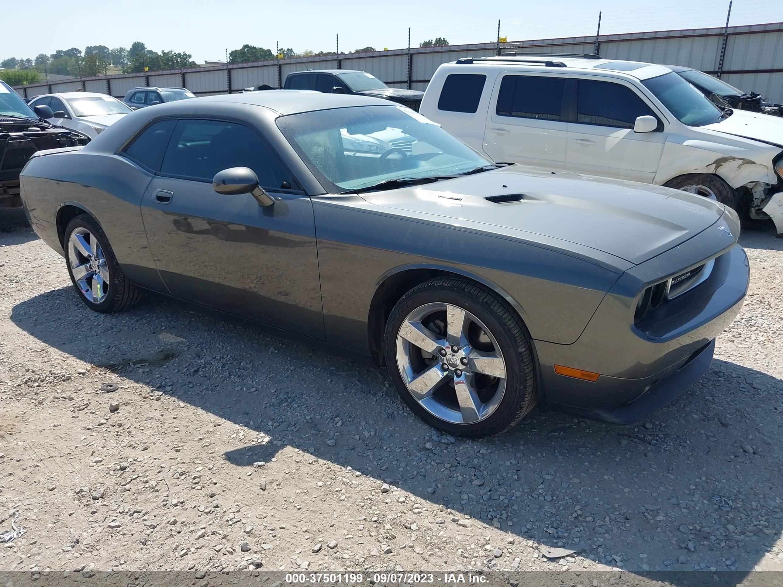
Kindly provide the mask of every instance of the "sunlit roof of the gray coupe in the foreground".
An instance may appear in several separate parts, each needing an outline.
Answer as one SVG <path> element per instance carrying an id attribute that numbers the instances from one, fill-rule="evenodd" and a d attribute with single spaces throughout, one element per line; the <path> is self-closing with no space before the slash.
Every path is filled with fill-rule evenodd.
<path id="1" fill-rule="evenodd" d="M 370 98 L 349 94 L 323 94 L 311 90 L 262 90 L 261 92 L 245 92 L 244 94 L 205 95 L 201 98 L 179 100 L 182 103 L 195 106 L 197 103 L 222 102 L 235 104 L 250 104 L 264 106 L 279 114 L 297 114 L 313 110 L 330 110 L 332 108 L 348 108 L 350 106 L 397 106 L 388 100 Z M 161 104 L 168 106 L 168 104 Z"/>

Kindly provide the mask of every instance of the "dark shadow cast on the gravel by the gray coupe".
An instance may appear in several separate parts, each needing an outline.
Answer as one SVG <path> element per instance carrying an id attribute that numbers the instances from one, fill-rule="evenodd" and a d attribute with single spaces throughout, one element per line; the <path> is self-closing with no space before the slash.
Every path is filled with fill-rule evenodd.
<path id="1" fill-rule="evenodd" d="M 387 483 L 445 506 L 453 513 L 440 517 L 468 539 L 482 529 L 465 515 L 542 553 L 576 549 L 639 574 L 706 578 L 769 560 L 783 530 L 781 380 L 731 362 L 714 361 L 636 427 L 535 412 L 499 437 L 454 441 L 413 416 L 377 369 L 169 304 L 96 315 L 61 288 L 17 304 L 11 319 L 82 361 L 269 436 L 226 452 L 236 466 L 299 448 L 373 477 L 378 495 Z M 85 319 L 110 335 L 85 344 Z M 669 581 L 693 584 L 677 576 Z"/>

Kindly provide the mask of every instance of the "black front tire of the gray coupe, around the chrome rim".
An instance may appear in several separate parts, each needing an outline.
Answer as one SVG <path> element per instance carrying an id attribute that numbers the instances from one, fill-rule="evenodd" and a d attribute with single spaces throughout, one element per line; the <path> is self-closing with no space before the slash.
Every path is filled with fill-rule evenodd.
<path id="1" fill-rule="evenodd" d="M 395 345 L 402 322 L 413 310 L 432 302 L 455 304 L 471 312 L 493 333 L 506 362 L 506 390 L 494 412 L 476 423 L 450 423 L 428 412 L 413 395 L 399 373 Z M 524 322 L 507 301 L 476 283 L 438 277 L 410 290 L 391 310 L 384 333 L 384 358 L 388 375 L 400 398 L 432 427 L 447 434 L 482 438 L 513 427 L 536 405 L 536 367 L 530 335 Z"/>

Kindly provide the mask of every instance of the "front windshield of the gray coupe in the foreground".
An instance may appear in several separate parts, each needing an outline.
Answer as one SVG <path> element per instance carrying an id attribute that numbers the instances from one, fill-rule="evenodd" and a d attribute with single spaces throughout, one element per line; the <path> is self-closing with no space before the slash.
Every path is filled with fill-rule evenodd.
<path id="1" fill-rule="evenodd" d="M 491 162 L 405 106 L 354 106 L 277 119 L 277 126 L 332 193 L 402 178 L 442 178 Z"/>

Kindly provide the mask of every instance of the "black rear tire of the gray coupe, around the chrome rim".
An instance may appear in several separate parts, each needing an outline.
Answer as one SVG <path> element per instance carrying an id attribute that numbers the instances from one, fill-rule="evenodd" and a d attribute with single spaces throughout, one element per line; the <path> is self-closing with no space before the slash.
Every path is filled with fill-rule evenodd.
<path id="1" fill-rule="evenodd" d="M 87 229 L 98 239 L 98 243 L 103 250 L 103 255 L 106 257 L 106 266 L 109 270 L 110 280 L 109 286 L 106 288 L 106 299 L 99 304 L 88 300 L 87 297 L 81 293 L 81 290 L 76 283 L 76 279 L 74 279 L 74 273 L 70 268 L 68 252 L 66 250 L 66 267 L 68 269 L 68 275 L 70 275 L 70 283 L 74 284 L 74 289 L 76 290 L 78 297 L 88 308 L 95 310 L 96 312 L 121 312 L 122 310 L 131 308 L 132 305 L 139 301 L 141 294 L 139 290 L 125 278 L 125 274 L 122 272 L 119 263 L 117 263 L 117 257 L 114 256 L 114 250 L 112 250 L 111 245 L 109 244 L 109 239 L 106 238 L 103 229 L 101 229 L 92 216 L 89 214 L 81 214 L 68 223 L 67 228 L 65 229 L 64 248 L 67 249 L 68 247 L 71 233 L 79 228 Z"/>

